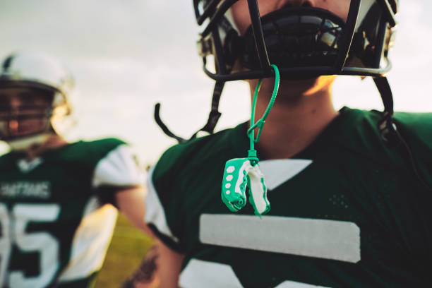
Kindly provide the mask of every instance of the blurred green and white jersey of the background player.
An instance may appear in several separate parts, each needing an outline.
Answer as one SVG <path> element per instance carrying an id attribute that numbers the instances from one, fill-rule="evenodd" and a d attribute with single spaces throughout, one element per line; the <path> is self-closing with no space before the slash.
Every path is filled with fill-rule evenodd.
<path id="1" fill-rule="evenodd" d="M 134 163 L 114 138 L 0 157 L 0 287 L 90 287 L 116 221 L 105 204 L 140 184 Z"/>

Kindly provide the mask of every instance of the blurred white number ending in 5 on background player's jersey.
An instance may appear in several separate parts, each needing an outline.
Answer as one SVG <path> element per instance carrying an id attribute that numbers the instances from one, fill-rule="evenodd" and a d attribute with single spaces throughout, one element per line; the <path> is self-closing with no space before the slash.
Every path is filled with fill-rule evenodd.
<path id="1" fill-rule="evenodd" d="M 16 204 L 8 212 L 0 203 L 0 287 L 37 288 L 49 284 L 59 269 L 59 242 L 48 232 L 26 233 L 25 228 L 29 222 L 53 222 L 59 212 L 57 204 Z M 25 277 L 22 270 L 8 271 L 12 244 L 23 252 L 40 253 L 40 275 Z"/>

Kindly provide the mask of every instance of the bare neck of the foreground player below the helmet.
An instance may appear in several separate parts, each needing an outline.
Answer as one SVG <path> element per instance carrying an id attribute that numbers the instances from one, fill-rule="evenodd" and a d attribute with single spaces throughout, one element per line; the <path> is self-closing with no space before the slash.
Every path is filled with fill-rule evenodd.
<path id="1" fill-rule="evenodd" d="M 287 83 L 281 84 L 258 143 L 258 152 L 268 159 L 289 158 L 301 152 L 338 115 L 331 101 L 331 83 L 307 93 L 284 87 Z M 251 87 L 255 88 L 255 85 L 251 83 Z M 257 101 L 256 119 L 265 112 L 272 89 L 271 80 L 263 83 Z"/>

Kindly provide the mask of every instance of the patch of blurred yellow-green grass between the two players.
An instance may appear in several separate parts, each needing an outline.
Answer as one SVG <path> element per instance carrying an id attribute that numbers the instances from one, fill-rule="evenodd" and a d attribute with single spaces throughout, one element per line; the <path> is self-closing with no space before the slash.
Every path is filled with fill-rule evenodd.
<path id="1" fill-rule="evenodd" d="M 138 267 L 152 245 L 150 237 L 119 214 L 107 257 L 96 281 L 98 288 L 119 288 Z"/>

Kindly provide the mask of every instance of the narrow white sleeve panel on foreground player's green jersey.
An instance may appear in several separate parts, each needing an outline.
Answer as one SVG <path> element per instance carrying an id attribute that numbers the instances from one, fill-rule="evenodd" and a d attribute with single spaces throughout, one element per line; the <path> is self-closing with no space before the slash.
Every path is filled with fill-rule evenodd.
<path id="1" fill-rule="evenodd" d="M 145 198 L 145 222 L 154 224 L 160 233 L 169 236 L 173 241 L 178 242 L 179 239 L 172 234 L 171 229 L 168 227 L 164 208 L 160 203 L 159 197 L 157 197 L 156 188 L 152 181 L 154 171 L 155 167 L 152 167 L 148 172 L 148 194 Z"/>

